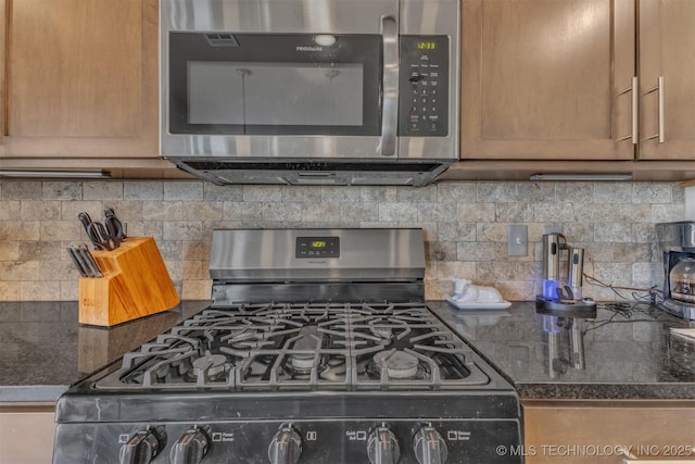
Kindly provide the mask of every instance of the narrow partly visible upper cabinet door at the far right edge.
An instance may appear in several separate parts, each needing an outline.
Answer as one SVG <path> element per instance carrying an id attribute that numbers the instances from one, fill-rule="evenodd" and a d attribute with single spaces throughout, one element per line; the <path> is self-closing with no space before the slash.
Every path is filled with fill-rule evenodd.
<path id="1" fill-rule="evenodd" d="M 695 160 L 695 1 L 641 0 L 639 37 L 640 159 Z"/>

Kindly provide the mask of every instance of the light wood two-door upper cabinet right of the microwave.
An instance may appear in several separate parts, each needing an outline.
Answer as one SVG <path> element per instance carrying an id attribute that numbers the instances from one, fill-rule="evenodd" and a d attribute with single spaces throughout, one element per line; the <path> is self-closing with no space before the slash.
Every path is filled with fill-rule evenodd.
<path id="1" fill-rule="evenodd" d="M 462 159 L 695 160 L 695 1 L 463 0 L 462 24 Z"/>

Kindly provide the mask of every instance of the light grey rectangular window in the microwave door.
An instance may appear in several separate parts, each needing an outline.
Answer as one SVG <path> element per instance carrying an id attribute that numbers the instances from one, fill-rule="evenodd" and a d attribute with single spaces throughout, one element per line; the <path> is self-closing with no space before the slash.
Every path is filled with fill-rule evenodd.
<path id="1" fill-rule="evenodd" d="M 362 126 L 363 87 L 361 63 L 189 62 L 188 123 Z"/>

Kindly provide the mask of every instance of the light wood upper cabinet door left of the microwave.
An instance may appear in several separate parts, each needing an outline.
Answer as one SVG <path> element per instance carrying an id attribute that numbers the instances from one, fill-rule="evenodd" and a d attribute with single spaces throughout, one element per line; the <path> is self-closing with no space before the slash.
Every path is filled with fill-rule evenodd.
<path id="1" fill-rule="evenodd" d="M 156 156 L 157 1 L 4 2 L 4 155 Z"/>

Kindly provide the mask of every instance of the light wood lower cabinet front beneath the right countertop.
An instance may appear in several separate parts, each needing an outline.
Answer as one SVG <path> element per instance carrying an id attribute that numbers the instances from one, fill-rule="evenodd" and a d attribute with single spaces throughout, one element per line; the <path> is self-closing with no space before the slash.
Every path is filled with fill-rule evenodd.
<path id="1" fill-rule="evenodd" d="M 522 403 L 526 464 L 695 462 L 692 400 Z"/>

